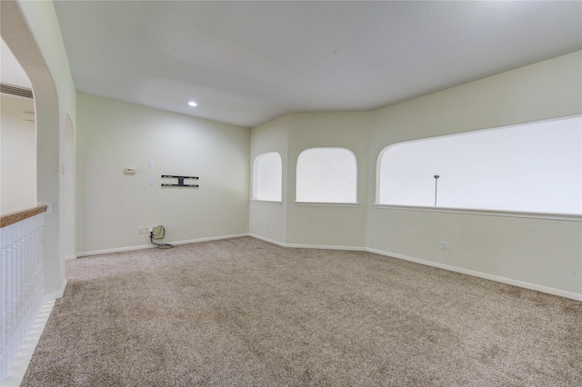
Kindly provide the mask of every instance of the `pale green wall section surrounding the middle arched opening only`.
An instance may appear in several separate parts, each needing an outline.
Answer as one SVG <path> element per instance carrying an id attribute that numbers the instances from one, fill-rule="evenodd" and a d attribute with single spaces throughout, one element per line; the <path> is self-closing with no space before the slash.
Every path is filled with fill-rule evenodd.
<path id="1" fill-rule="evenodd" d="M 289 114 L 286 243 L 346 248 L 366 245 L 369 125 L 370 114 L 366 112 Z M 297 157 L 307 148 L 326 146 L 356 154 L 357 205 L 295 203 Z"/>

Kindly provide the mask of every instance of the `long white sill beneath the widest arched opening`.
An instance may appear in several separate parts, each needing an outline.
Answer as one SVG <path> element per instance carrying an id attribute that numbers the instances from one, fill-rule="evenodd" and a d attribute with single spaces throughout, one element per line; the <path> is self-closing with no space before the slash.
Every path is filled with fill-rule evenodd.
<path id="1" fill-rule="evenodd" d="M 575 213 L 527 213 L 502 210 L 472 210 L 468 208 L 423 207 L 416 205 L 372 204 L 374 208 L 386 210 L 419 211 L 426 213 L 462 213 L 480 216 L 502 216 L 507 218 L 548 219 L 553 221 L 582 222 L 582 215 Z"/>

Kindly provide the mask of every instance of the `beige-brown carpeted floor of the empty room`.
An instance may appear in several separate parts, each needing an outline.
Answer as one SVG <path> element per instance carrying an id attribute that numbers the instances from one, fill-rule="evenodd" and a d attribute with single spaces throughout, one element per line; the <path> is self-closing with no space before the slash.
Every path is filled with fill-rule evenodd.
<path id="1" fill-rule="evenodd" d="M 81 258 L 23 386 L 580 386 L 582 303 L 250 237 Z"/>

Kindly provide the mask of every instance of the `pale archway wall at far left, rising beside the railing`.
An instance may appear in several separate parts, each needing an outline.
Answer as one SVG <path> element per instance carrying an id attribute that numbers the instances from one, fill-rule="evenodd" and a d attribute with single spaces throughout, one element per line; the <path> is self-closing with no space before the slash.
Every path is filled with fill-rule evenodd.
<path id="1" fill-rule="evenodd" d="M 45 215 L 45 295 L 65 289 L 65 182 L 61 160 L 66 116 L 75 126 L 75 84 L 52 1 L 3 1 L 2 38 L 22 65 L 35 94 L 36 199 Z"/>

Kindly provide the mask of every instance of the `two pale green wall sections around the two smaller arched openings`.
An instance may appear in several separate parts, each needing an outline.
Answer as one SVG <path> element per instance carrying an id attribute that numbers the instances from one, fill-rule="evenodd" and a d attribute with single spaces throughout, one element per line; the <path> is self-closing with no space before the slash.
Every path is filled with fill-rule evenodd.
<path id="1" fill-rule="evenodd" d="M 281 154 L 283 203 L 251 203 L 251 234 L 284 245 L 363 247 L 369 118 L 365 112 L 286 114 L 253 128 L 252 158 Z M 296 203 L 297 157 L 308 148 L 329 146 L 356 154 L 358 204 Z"/>

